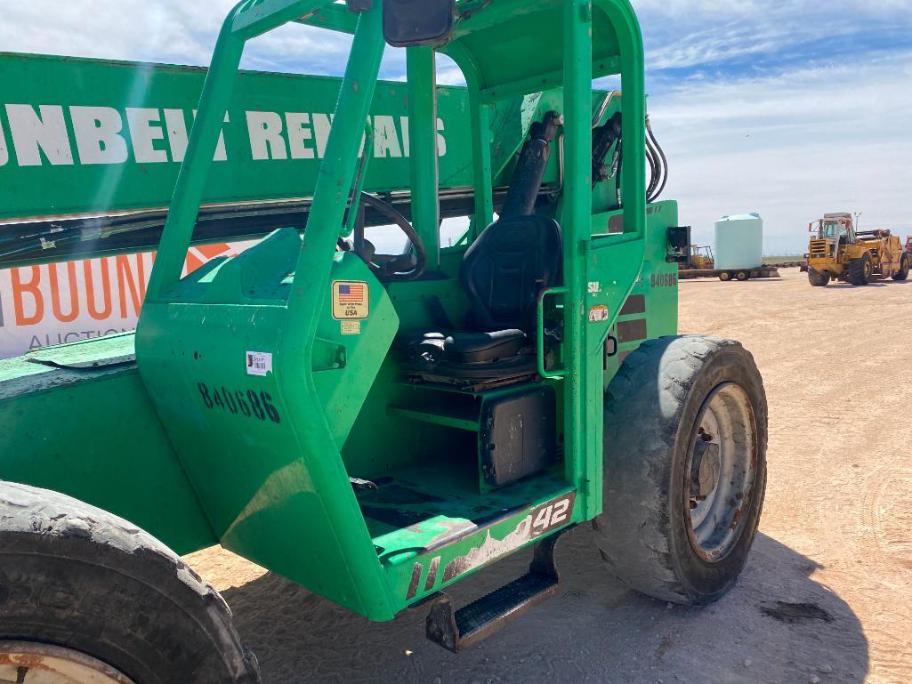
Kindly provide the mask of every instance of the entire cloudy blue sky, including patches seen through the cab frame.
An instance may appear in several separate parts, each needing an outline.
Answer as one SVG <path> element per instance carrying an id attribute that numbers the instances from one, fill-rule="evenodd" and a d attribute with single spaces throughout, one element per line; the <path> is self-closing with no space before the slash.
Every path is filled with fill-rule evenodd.
<path id="1" fill-rule="evenodd" d="M 233 0 L 8 4 L 0 49 L 205 65 Z M 823 212 L 912 234 L 912 0 L 634 0 L 667 198 L 710 242 L 760 212 L 768 254 L 802 253 Z M 401 78 L 401 51 L 383 75 Z M 244 66 L 337 74 L 346 40 L 288 26 Z M 459 82 L 447 65 L 440 79 Z"/>

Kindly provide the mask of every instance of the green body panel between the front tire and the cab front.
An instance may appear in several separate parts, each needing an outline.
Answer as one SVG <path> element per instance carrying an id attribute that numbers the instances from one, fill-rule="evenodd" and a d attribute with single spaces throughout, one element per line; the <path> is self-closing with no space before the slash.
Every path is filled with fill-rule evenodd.
<path id="1" fill-rule="evenodd" d="M 0 361 L 0 480 L 117 513 L 179 554 L 218 544 L 132 354 L 129 334 Z"/>

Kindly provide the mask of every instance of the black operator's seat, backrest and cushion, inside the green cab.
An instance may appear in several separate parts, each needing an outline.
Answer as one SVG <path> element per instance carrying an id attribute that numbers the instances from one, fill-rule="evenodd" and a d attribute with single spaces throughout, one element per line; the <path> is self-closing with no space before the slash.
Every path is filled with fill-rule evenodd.
<path id="1" fill-rule="evenodd" d="M 547 216 L 510 216 L 489 225 L 460 269 L 470 328 L 404 336 L 409 374 L 455 384 L 534 376 L 535 306 L 539 293 L 559 281 L 561 244 L 560 226 Z"/>

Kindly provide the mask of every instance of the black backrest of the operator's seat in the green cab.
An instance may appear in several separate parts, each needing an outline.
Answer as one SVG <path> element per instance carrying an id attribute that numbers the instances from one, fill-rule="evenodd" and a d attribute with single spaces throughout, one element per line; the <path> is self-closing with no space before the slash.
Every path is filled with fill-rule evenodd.
<path id="1" fill-rule="evenodd" d="M 531 332 L 538 294 L 557 285 L 561 264 L 561 228 L 554 219 L 509 216 L 489 225 L 462 259 L 472 326 Z"/>

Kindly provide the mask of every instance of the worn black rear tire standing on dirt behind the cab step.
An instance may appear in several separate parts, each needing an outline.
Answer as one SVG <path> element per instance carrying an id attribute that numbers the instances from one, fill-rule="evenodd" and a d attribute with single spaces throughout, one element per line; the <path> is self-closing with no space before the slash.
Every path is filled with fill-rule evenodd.
<path id="1" fill-rule="evenodd" d="M 705 415 L 708 398 L 723 390 L 742 390 L 744 406 L 750 402 L 743 414 L 751 415 L 753 444 L 744 456 L 753 474 L 740 503 L 725 504 L 731 546 L 719 557 L 707 557 L 711 554 L 700 550 L 692 536 L 689 473 L 697 421 Z M 766 443 L 762 378 L 739 343 L 689 336 L 643 343 L 627 357 L 606 393 L 605 509 L 594 527 L 612 573 L 663 601 L 703 605 L 724 595 L 747 561 L 760 522 Z"/>

